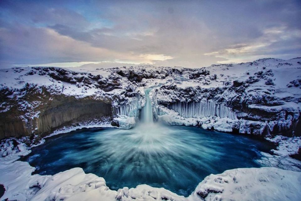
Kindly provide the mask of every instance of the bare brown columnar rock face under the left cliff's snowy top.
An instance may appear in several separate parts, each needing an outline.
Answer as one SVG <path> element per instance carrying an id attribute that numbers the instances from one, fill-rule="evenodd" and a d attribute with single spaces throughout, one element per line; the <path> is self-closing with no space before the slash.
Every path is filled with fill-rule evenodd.
<path id="1" fill-rule="evenodd" d="M 18 108 L 0 113 L 0 139 L 7 137 L 21 137 L 38 134 L 45 137 L 57 128 L 71 123 L 80 122 L 80 117 L 89 117 L 100 114 L 111 116 L 111 105 L 101 100 L 82 99 L 73 97 L 53 97 L 53 100 L 46 101 L 35 110 L 40 115 L 34 118 L 20 119 Z M 20 113 L 20 111 L 19 111 Z"/>

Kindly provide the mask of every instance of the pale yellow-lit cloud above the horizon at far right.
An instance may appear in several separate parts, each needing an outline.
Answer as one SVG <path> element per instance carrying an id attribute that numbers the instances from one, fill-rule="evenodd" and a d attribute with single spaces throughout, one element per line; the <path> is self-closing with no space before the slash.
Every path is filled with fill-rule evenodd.
<path id="1" fill-rule="evenodd" d="M 235 44 L 204 55 L 223 58 L 218 63 L 247 62 L 262 57 L 293 58 L 301 55 L 301 30 L 271 27 L 262 31 L 261 37 L 248 44 Z M 290 50 L 292 52 L 288 53 Z"/>

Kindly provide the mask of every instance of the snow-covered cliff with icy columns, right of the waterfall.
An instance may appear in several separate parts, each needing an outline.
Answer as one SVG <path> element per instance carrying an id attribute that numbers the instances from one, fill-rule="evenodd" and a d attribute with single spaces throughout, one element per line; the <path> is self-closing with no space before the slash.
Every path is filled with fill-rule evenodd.
<path id="1" fill-rule="evenodd" d="M 182 80 L 155 90 L 159 120 L 262 136 L 301 135 L 301 58 L 204 69 L 187 69 Z"/>

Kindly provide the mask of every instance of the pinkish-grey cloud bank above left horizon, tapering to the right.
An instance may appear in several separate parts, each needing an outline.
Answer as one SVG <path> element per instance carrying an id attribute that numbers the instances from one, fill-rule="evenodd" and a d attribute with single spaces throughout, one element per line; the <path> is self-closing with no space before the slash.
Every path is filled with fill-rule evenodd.
<path id="1" fill-rule="evenodd" d="M 84 41 L 60 35 L 49 28 L 24 27 L 22 25 L 0 29 L 0 46 L 6 51 L 2 57 L 13 64 L 45 64 L 58 62 L 98 63 L 101 61 L 127 63 L 153 63 L 172 57 L 163 54 L 138 54 L 116 52 L 102 47 L 94 47 Z M 16 59 L 18 58 L 18 60 Z M 89 61 L 89 62 L 87 62 Z M 3 65 L 7 65 L 5 62 Z"/>

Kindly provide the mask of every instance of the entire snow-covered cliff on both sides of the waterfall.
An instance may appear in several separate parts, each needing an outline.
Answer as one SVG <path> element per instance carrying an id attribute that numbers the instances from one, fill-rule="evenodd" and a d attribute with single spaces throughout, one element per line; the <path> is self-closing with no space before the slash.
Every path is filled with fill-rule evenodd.
<path id="1" fill-rule="evenodd" d="M 89 119 L 111 119 L 113 126 L 131 128 L 146 102 L 143 89 L 155 85 L 150 96 L 159 121 L 259 136 L 300 136 L 300 69 L 301 58 L 269 58 L 198 69 L 1 70 L 0 138 L 45 136 Z"/>

